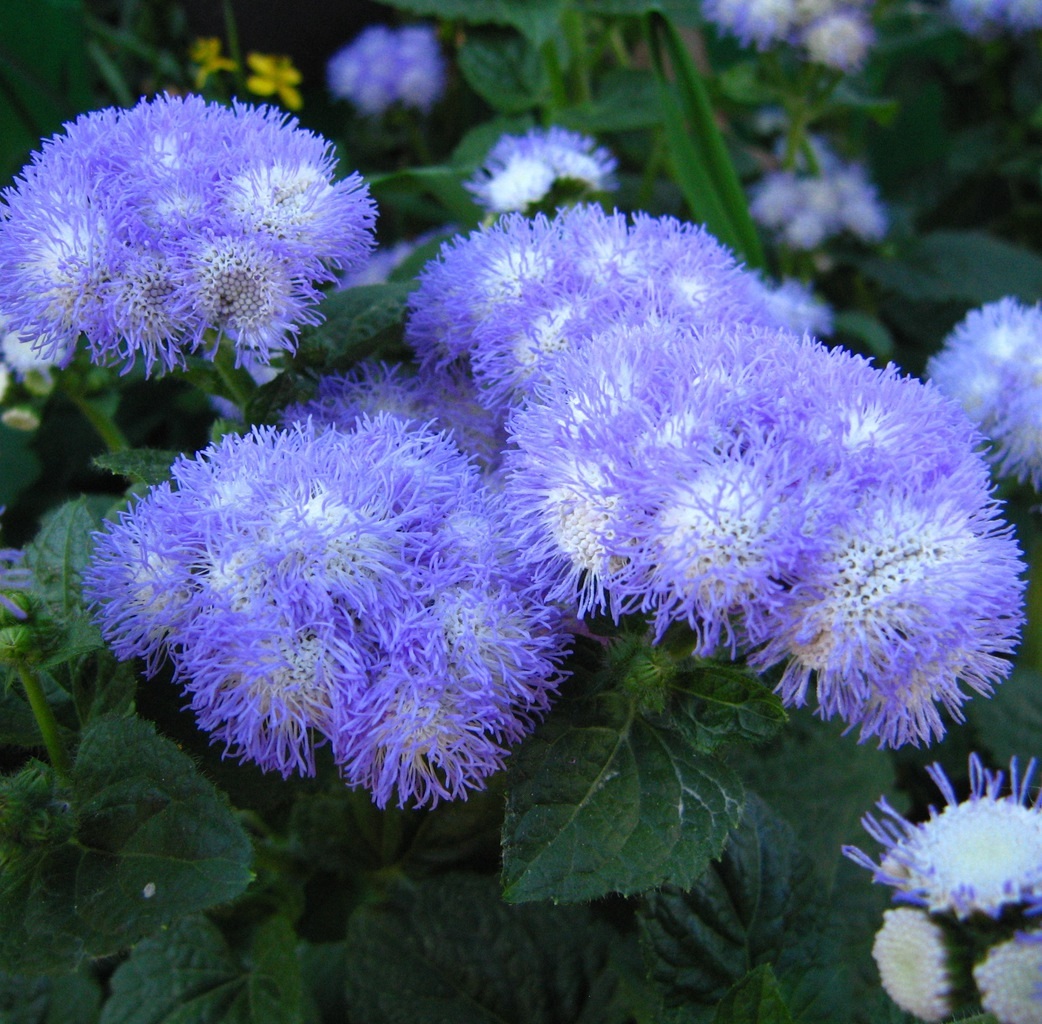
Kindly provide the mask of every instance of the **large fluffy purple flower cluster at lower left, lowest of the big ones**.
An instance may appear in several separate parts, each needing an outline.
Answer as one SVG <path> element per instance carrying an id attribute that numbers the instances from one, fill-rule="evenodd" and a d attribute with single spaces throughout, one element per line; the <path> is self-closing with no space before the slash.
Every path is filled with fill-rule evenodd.
<path id="1" fill-rule="evenodd" d="M 383 806 L 466 796 L 547 708 L 564 641 L 516 515 L 441 433 L 256 428 L 96 538 L 116 653 L 169 658 L 199 726 L 283 776 L 328 745 Z"/>

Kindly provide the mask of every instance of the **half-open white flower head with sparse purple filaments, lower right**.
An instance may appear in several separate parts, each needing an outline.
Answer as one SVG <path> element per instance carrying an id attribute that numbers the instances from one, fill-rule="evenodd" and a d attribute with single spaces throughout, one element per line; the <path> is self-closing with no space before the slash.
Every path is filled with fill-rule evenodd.
<path id="1" fill-rule="evenodd" d="M 843 852 L 874 881 L 893 886 L 895 900 L 932 913 L 965 920 L 974 914 L 997 919 L 1011 907 L 1042 910 L 1042 794 L 1029 793 L 1035 768 L 1033 759 L 1021 774 L 1013 758 L 1003 795 L 1004 773 L 989 771 L 971 754 L 970 795 L 960 802 L 944 771 L 932 765 L 927 772 L 944 808 L 931 807 L 927 821 L 913 824 L 884 797 L 882 820 L 862 818 L 865 831 L 884 847 L 879 864 L 854 846 Z"/>

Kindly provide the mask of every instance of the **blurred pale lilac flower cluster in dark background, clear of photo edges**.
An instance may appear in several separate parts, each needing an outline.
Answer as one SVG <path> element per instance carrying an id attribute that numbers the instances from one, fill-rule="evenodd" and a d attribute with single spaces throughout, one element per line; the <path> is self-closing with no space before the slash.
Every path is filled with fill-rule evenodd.
<path id="1" fill-rule="evenodd" d="M 843 232 L 878 242 L 887 214 L 865 169 L 820 144 L 815 151 L 818 173 L 771 171 L 756 182 L 749 203 L 753 219 L 790 249 L 817 249 Z"/>

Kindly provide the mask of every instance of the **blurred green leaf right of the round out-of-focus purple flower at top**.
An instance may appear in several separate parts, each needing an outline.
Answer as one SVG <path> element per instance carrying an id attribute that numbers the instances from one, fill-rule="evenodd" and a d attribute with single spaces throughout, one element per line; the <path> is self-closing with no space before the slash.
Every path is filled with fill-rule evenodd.
<path id="1" fill-rule="evenodd" d="M 520 36 L 468 34 L 456 60 L 467 84 L 502 114 L 520 114 L 543 101 L 543 63 L 539 51 Z"/>

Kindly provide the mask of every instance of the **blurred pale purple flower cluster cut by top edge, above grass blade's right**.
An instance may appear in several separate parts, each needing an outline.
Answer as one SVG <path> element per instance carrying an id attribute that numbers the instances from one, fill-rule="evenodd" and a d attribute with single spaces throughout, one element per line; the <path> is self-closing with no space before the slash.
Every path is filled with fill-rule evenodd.
<path id="1" fill-rule="evenodd" d="M 779 43 L 837 71 L 857 71 L 874 41 L 867 0 L 704 0 L 702 14 L 746 46 Z"/>

